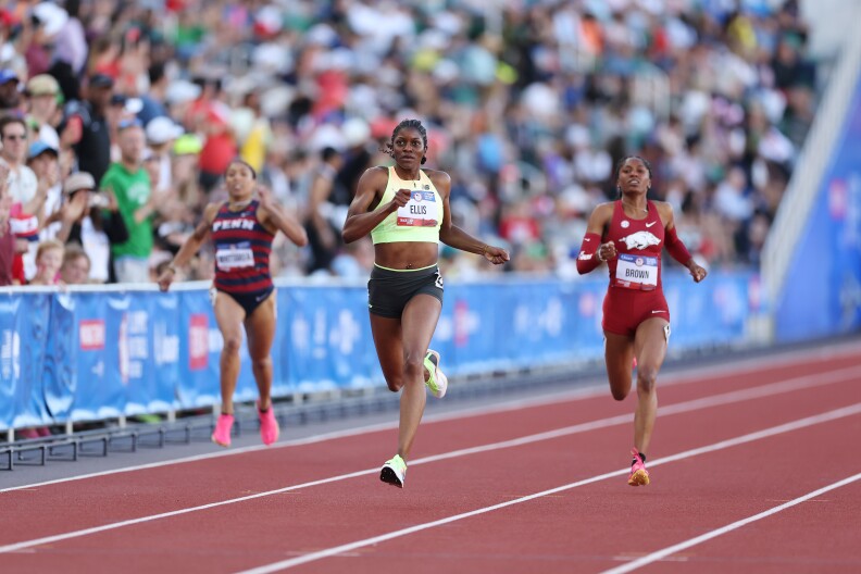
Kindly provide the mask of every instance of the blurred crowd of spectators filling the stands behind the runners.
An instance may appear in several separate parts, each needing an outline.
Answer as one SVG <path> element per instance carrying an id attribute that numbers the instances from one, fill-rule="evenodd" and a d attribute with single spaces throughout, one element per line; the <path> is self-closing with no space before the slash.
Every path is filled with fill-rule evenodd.
<path id="1" fill-rule="evenodd" d="M 366 277 L 340 228 L 405 117 L 502 272 L 576 275 L 628 153 L 703 264 L 757 264 L 818 99 L 807 36 L 793 0 L 5 0 L 0 284 L 152 280 L 235 157 L 309 230 L 276 275 Z"/>

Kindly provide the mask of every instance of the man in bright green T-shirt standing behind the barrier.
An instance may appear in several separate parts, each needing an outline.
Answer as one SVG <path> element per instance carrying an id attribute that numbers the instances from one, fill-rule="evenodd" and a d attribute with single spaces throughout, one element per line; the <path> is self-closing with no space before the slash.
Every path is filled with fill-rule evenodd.
<path id="1" fill-rule="evenodd" d="M 114 276 L 117 283 L 148 283 L 157 210 L 150 176 L 142 163 L 144 128 L 137 120 L 121 123 L 118 128 L 120 161 L 111 164 L 99 185 L 104 191 L 113 191 L 128 229 L 126 241 L 111 241 Z"/>

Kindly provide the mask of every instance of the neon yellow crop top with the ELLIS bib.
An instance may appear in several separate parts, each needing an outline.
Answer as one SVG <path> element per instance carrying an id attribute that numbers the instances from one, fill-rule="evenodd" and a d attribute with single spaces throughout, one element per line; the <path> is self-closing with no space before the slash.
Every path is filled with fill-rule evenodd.
<path id="1" fill-rule="evenodd" d="M 399 189 L 412 190 L 412 198 L 374 227 L 371 232 L 374 245 L 396 241 L 439 242 L 442 198 L 424 170 L 419 170 L 419 180 L 408 182 L 398 177 L 395 167 L 389 167 L 386 191 L 374 211 L 387 205 Z"/>

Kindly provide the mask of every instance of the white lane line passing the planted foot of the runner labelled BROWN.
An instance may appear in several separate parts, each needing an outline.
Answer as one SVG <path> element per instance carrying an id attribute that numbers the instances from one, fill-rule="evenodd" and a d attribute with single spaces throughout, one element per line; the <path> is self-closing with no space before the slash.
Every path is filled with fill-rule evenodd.
<path id="1" fill-rule="evenodd" d="M 763 430 L 758 430 L 756 433 L 750 433 L 748 435 L 743 435 L 736 438 L 732 438 L 728 440 L 722 440 L 720 442 L 715 442 L 713 445 L 709 445 L 706 447 L 700 447 L 696 449 L 686 450 L 684 452 L 679 452 L 672 457 L 665 457 L 663 459 L 657 459 L 649 463 L 649 466 L 658 466 L 660 464 L 666 464 L 669 462 L 674 462 L 678 460 L 689 459 L 692 457 L 697 457 L 699 454 L 706 454 L 709 452 L 714 452 L 716 450 L 726 449 L 729 447 L 735 447 L 738 445 L 744 445 L 746 442 L 752 442 L 754 440 L 761 440 L 763 438 L 772 437 L 775 435 L 789 433 L 791 430 L 797 430 L 799 428 L 804 428 L 809 426 L 813 426 L 816 424 L 825 423 L 835 421 L 837 419 L 843 419 L 846 416 L 852 416 L 856 414 L 861 413 L 861 402 L 852 404 L 850 407 L 845 407 L 843 409 L 837 409 L 834 411 L 825 412 L 822 414 L 818 414 L 814 416 L 808 416 L 806 419 L 800 419 L 798 421 L 793 421 L 790 423 L 782 424 L 778 426 L 773 426 L 771 428 L 765 428 Z M 359 548 L 364 548 L 367 546 L 376 545 L 379 542 L 385 542 L 386 540 L 391 540 L 394 538 L 400 538 L 402 536 L 407 536 L 410 534 L 414 534 L 422 531 L 427 531 L 429 528 L 435 528 L 437 526 L 442 526 L 445 524 L 450 524 L 452 522 L 461 521 L 464 519 L 469 519 L 472 516 L 477 516 L 481 514 L 486 514 L 488 512 L 492 512 L 495 510 L 500 510 L 508 507 L 513 507 L 514 504 L 521 504 L 523 502 L 528 502 L 531 500 L 535 500 L 536 498 L 546 497 L 549 495 L 554 495 L 557 492 L 562 492 L 564 490 L 571 490 L 573 488 L 577 488 L 579 486 L 585 486 L 588 484 L 597 483 L 599 481 L 604 481 L 607 478 L 612 478 L 614 476 L 624 476 L 629 472 L 629 469 L 622 469 L 615 472 L 609 472 L 604 474 L 600 474 L 597 476 L 592 476 L 590 478 L 586 478 L 583 481 L 577 481 L 576 483 L 566 484 L 563 486 L 558 486 L 556 488 L 550 488 L 549 490 L 542 490 L 541 492 L 536 492 L 534 495 L 528 495 L 525 497 L 521 497 L 514 500 L 509 500 L 507 502 L 501 502 L 499 504 L 494 504 L 491 507 L 485 507 L 477 510 L 473 510 L 470 512 L 463 512 L 461 514 L 456 514 L 453 516 L 447 516 L 445 519 L 436 520 L 433 522 L 426 522 L 424 524 L 416 524 L 415 526 L 410 526 L 409 528 L 402 528 L 400 531 L 390 532 L 387 534 L 382 534 L 379 536 L 374 536 L 372 538 L 365 538 L 363 540 L 357 540 L 354 542 L 349 542 L 346 545 L 340 545 L 332 548 L 327 548 L 325 550 L 320 550 L 316 552 L 309 552 L 304 556 L 300 556 L 297 558 L 291 558 L 288 560 L 282 560 L 280 562 L 274 562 L 272 564 L 265 564 L 262 566 L 253 567 L 250 570 L 241 571 L 238 574 L 269 574 L 271 572 L 278 572 L 282 570 L 287 570 L 294 566 L 299 566 L 301 564 L 307 564 L 309 562 L 315 562 L 317 560 L 322 560 L 324 558 L 329 558 L 334 556 L 341 554 L 344 552 L 350 552 L 357 550 Z M 615 572 L 615 571 L 613 571 Z"/>

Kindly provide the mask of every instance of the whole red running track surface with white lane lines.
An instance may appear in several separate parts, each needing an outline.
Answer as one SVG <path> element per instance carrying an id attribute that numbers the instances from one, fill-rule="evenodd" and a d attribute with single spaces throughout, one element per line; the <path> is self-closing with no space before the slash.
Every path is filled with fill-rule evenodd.
<path id="1" fill-rule="evenodd" d="M 394 429 L 8 489 L 0 571 L 859 572 L 859 354 L 662 377 L 648 487 L 602 387 L 426 421 L 403 490 Z"/>

